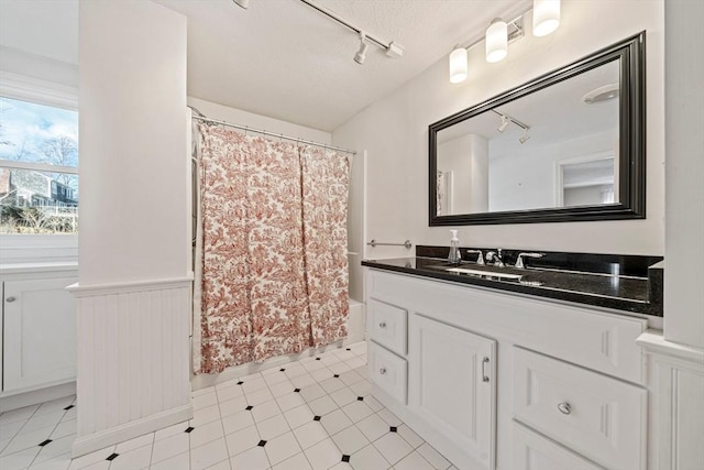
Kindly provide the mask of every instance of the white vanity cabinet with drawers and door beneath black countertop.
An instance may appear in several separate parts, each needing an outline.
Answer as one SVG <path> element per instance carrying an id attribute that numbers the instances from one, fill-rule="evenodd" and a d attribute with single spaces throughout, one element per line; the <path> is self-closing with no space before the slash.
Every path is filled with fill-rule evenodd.
<path id="1" fill-rule="evenodd" d="M 455 467 L 648 468 L 646 319 L 376 269 L 365 291 L 374 396 Z"/>

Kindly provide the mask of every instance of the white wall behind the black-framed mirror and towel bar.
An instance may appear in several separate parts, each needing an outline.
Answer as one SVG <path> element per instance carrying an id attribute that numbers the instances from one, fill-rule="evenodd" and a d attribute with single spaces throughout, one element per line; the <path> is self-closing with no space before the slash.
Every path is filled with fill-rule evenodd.
<path id="1" fill-rule="evenodd" d="M 527 18 L 527 24 L 530 24 Z M 663 2 L 563 0 L 560 29 L 509 46 L 498 64 L 482 47 L 470 52 L 470 77 L 448 79 L 447 57 L 333 132 L 337 145 L 366 149 L 369 238 L 448 244 L 449 228 L 428 227 L 428 124 L 647 30 L 648 218 L 579 223 L 459 227 L 462 244 L 663 254 Z M 468 32 L 468 35 L 473 32 Z M 403 248 L 367 250 L 369 258 L 404 256 Z"/>

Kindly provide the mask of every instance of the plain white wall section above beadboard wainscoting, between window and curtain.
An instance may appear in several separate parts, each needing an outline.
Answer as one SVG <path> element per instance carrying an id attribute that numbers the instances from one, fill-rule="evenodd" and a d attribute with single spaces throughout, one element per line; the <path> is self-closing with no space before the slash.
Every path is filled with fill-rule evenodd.
<path id="1" fill-rule="evenodd" d="M 143 1 L 81 2 L 82 14 L 80 284 L 183 277 L 186 19 Z"/>

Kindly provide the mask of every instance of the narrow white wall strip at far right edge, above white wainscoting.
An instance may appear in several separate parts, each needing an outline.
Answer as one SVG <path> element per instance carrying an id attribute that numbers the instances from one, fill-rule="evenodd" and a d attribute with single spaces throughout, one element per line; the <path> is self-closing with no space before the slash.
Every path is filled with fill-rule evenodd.
<path id="1" fill-rule="evenodd" d="M 704 348 L 704 2 L 666 2 L 664 336 Z"/>

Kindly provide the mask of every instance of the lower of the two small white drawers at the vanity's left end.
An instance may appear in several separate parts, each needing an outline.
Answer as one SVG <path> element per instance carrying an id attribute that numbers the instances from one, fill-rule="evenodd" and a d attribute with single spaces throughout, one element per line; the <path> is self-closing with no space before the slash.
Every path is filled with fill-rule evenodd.
<path id="1" fill-rule="evenodd" d="M 408 364 L 405 359 L 387 351 L 374 341 L 367 345 L 370 380 L 394 400 L 406 404 Z"/>

